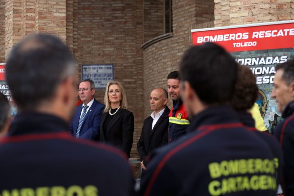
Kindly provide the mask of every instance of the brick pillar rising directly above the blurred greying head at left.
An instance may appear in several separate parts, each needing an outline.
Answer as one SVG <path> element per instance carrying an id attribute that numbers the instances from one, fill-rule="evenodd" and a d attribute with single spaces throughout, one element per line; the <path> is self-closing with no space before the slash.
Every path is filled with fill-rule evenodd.
<path id="1" fill-rule="evenodd" d="M 54 34 L 66 41 L 66 5 L 66 0 L 6 0 L 5 56 L 30 33 Z"/>

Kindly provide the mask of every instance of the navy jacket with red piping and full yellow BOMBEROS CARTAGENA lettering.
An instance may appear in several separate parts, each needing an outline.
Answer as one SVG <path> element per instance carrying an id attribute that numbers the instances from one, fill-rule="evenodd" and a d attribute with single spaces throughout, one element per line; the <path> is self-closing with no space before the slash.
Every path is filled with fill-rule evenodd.
<path id="1" fill-rule="evenodd" d="M 234 110 L 208 108 L 188 131 L 151 157 L 141 195 L 275 196 L 278 160 Z"/>

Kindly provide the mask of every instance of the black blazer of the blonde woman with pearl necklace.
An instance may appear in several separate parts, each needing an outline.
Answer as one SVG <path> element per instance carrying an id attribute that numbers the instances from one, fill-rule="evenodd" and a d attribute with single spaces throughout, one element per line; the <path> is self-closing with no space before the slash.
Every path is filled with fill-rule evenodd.
<path id="1" fill-rule="evenodd" d="M 121 148 L 130 157 L 133 146 L 134 115 L 132 112 L 119 109 L 110 121 L 104 135 L 103 124 L 105 123 L 108 112 L 102 113 L 100 123 L 100 141 Z"/>

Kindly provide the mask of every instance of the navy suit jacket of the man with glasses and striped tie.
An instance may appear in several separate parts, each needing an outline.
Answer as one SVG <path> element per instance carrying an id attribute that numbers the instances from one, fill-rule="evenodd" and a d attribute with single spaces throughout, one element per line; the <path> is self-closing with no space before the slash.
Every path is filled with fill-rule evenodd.
<path id="1" fill-rule="evenodd" d="M 76 135 L 79 119 L 82 112 L 82 105 L 76 107 L 73 120 L 70 123 L 69 130 L 73 136 Z M 81 130 L 80 130 L 80 138 L 83 139 L 89 139 L 89 140 L 99 140 L 100 135 L 100 119 L 101 119 L 101 113 L 103 109 L 105 108 L 105 105 L 102 103 L 99 103 L 95 98 L 94 102 L 89 108 L 84 122 L 82 124 Z"/>

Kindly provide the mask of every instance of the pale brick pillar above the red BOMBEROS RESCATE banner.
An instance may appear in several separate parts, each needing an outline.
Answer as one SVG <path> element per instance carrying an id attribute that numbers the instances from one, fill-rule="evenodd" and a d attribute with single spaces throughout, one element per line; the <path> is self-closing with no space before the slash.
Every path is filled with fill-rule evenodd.
<path id="1" fill-rule="evenodd" d="M 215 26 L 294 19 L 293 0 L 214 0 Z"/>

